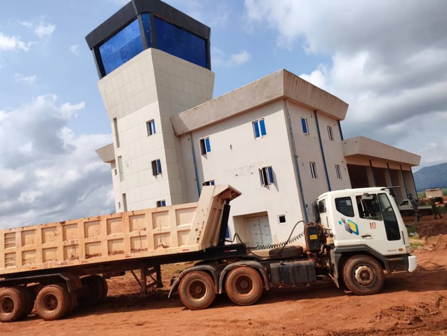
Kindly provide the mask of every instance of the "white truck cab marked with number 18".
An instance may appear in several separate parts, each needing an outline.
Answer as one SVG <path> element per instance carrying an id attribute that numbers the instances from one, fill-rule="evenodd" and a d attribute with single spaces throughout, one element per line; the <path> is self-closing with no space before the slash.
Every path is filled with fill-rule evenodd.
<path id="1" fill-rule="evenodd" d="M 374 257 L 387 273 L 416 269 L 416 256 L 410 254 L 408 233 L 389 189 L 329 191 L 316 200 L 316 208 L 327 243 L 333 243 L 330 254 L 336 284 L 337 265 L 349 254 Z"/>

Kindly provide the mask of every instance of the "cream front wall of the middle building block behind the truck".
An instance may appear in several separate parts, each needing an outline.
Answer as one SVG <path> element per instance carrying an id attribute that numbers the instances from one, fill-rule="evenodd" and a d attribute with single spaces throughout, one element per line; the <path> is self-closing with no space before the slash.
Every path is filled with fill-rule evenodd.
<path id="1" fill-rule="evenodd" d="M 273 243 L 286 240 L 296 221 L 303 218 L 283 107 L 283 101 L 277 100 L 180 136 L 188 201 L 198 198 L 193 145 L 200 188 L 204 181 L 214 180 L 242 192 L 231 203 L 229 223 L 231 233 L 236 226 L 238 234 L 247 239 L 247 218 L 267 214 Z M 267 135 L 255 138 L 252 122 L 260 118 L 265 119 Z M 200 153 L 203 137 L 210 138 L 211 152 L 206 155 Z M 272 166 L 274 184 L 262 186 L 259 168 L 266 166 Z M 278 215 L 286 216 L 285 224 L 278 223 Z M 300 229 L 302 226 L 295 234 Z"/>

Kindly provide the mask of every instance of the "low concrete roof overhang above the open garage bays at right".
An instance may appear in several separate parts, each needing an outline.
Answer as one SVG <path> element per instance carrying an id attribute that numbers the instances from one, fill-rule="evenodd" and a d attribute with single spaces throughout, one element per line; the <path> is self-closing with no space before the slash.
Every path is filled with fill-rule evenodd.
<path id="1" fill-rule="evenodd" d="M 343 140 L 343 153 L 349 157 L 371 160 L 380 158 L 385 161 L 407 164 L 411 167 L 418 166 L 421 156 L 402 149 L 382 144 L 376 140 L 364 136 L 357 136 Z"/>

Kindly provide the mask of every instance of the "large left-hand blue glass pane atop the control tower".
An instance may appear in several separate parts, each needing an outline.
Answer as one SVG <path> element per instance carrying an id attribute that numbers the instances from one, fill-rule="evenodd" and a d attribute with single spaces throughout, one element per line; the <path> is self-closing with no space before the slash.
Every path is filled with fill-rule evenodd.
<path id="1" fill-rule="evenodd" d="M 138 19 L 135 19 L 99 47 L 105 74 L 111 73 L 141 51 L 143 41 Z"/>

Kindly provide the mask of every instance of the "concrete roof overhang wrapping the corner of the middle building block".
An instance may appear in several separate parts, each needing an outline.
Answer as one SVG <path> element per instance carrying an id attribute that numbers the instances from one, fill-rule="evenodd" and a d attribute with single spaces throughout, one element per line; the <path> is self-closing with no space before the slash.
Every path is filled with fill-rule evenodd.
<path id="1" fill-rule="evenodd" d="M 176 135 L 181 135 L 283 98 L 337 120 L 343 120 L 348 110 L 343 100 L 281 69 L 173 116 L 171 121 Z"/>

